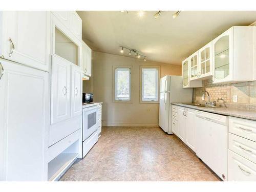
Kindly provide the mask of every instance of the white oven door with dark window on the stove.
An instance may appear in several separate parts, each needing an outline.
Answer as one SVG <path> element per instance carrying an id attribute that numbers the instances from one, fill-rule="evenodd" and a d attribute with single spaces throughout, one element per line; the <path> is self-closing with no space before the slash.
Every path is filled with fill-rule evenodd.
<path id="1" fill-rule="evenodd" d="M 98 129 L 98 106 L 83 109 L 82 140 L 86 140 Z"/>

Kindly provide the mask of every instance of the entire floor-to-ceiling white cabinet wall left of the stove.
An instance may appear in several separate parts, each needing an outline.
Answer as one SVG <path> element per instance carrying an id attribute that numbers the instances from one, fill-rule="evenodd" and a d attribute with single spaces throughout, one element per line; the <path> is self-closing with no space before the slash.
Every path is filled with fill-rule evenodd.
<path id="1" fill-rule="evenodd" d="M 58 180 L 81 155 L 81 18 L 0 11 L 0 29 L 0 181 Z"/>

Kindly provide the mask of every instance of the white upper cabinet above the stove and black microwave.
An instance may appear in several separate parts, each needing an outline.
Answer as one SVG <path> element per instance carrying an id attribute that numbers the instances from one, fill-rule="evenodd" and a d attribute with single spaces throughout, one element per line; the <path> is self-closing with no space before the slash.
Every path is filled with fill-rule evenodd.
<path id="1" fill-rule="evenodd" d="M 92 50 L 82 41 L 82 66 L 83 75 L 91 77 L 92 75 Z"/>

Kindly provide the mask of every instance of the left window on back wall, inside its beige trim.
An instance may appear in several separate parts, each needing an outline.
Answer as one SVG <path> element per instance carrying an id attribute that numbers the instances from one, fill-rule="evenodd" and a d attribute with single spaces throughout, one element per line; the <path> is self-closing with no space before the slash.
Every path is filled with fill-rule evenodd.
<path id="1" fill-rule="evenodd" d="M 131 100 L 131 69 L 130 68 L 115 69 L 115 100 L 116 101 Z"/>

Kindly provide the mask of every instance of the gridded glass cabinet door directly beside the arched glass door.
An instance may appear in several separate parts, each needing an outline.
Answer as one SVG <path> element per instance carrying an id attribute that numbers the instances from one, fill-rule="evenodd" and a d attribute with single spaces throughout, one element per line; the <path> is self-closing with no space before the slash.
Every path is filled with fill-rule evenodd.
<path id="1" fill-rule="evenodd" d="M 199 78 L 212 75 L 212 43 L 199 50 Z"/>

